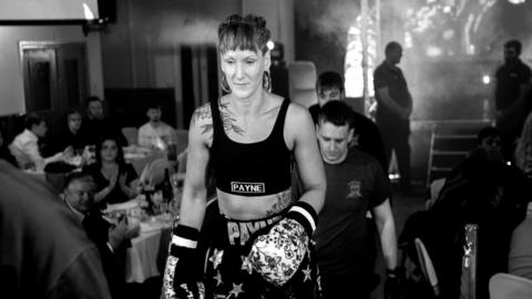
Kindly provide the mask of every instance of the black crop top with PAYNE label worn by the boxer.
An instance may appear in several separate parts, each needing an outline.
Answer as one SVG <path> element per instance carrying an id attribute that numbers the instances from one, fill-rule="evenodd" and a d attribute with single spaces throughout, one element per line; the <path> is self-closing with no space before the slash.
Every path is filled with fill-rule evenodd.
<path id="1" fill-rule="evenodd" d="M 212 166 L 216 187 L 225 193 L 262 196 L 286 190 L 291 185 L 291 151 L 284 126 L 290 101 L 285 99 L 269 136 L 256 143 L 237 143 L 224 131 L 217 101 L 211 101 L 213 116 Z"/>

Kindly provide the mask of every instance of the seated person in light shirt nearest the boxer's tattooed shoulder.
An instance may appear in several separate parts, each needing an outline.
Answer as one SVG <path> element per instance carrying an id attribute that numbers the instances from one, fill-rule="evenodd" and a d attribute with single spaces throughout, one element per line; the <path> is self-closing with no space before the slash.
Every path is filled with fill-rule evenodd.
<path id="1" fill-rule="evenodd" d="M 161 106 L 151 105 L 146 115 L 150 121 L 139 128 L 139 145 L 164 151 L 175 144 L 175 130 L 161 121 Z"/>

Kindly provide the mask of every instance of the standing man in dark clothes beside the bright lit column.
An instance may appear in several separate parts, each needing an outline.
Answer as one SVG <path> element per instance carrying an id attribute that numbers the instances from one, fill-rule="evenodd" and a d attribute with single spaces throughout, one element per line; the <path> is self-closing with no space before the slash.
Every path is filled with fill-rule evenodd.
<path id="1" fill-rule="evenodd" d="M 401 61 L 402 48 L 398 42 L 389 42 L 385 49 L 386 59 L 375 70 L 374 85 L 377 99 L 377 126 L 382 134 L 387 165 L 391 151 L 396 152 L 401 189 L 411 193 L 410 184 L 410 114 L 412 96 L 407 81 L 397 64 Z"/>

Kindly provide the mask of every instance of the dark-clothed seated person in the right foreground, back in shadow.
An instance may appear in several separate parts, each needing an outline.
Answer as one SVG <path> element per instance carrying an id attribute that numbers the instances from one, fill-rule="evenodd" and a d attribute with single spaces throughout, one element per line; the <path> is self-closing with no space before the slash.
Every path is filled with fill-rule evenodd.
<path id="1" fill-rule="evenodd" d="M 491 126 L 478 134 L 478 146 L 447 176 L 430 208 L 431 234 L 423 240 L 431 252 L 443 298 L 460 291 L 461 238 L 466 224 L 479 226 L 478 298 L 488 298 L 492 275 L 508 271 L 511 235 L 524 218 L 530 179 L 502 155 L 501 133 Z M 481 244 L 481 245 L 480 245 Z"/>

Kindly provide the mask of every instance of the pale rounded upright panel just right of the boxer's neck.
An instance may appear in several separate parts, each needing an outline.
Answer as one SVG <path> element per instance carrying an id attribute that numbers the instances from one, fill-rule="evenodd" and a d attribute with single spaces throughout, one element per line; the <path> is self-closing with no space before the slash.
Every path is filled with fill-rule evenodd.
<path id="1" fill-rule="evenodd" d="M 316 94 L 316 66 L 310 61 L 288 63 L 288 81 L 291 102 L 309 107 L 318 103 Z"/>

